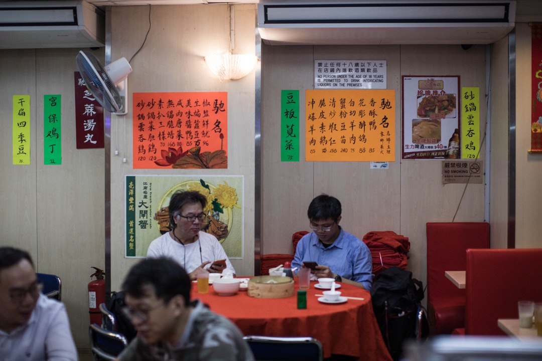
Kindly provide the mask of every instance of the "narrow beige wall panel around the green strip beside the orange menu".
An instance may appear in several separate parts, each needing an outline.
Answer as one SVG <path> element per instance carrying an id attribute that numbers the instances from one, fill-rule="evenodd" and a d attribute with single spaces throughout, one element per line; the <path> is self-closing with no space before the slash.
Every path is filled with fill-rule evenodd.
<path id="1" fill-rule="evenodd" d="M 299 90 L 305 114 L 305 89 L 312 88 L 312 47 L 262 44 L 262 254 L 293 254 L 292 234 L 308 229 L 307 207 L 314 194 L 314 165 L 305 162 L 305 133 L 300 132 L 300 161 L 280 160 L 281 90 Z M 299 126 L 305 122 L 300 116 Z"/>

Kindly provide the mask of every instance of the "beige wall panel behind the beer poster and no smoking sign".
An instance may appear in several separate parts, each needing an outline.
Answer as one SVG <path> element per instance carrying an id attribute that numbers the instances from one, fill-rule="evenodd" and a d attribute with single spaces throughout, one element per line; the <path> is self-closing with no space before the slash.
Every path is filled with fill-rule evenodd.
<path id="1" fill-rule="evenodd" d="M 485 45 L 473 45 L 469 50 L 463 50 L 460 45 L 401 45 L 401 75 L 459 75 L 461 87 L 479 87 L 480 97 L 485 99 L 482 97 L 486 93 L 485 52 Z M 482 127 L 485 117 L 486 104 L 482 101 Z M 485 160 L 483 149 L 480 159 Z M 427 279 L 425 224 L 484 221 L 483 183 L 469 184 L 466 190 L 464 184 L 443 185 L 441 169 L 439 160 L 401 163 L 401 231 L 410 238 L 409 269 L 424 283 Z"/>

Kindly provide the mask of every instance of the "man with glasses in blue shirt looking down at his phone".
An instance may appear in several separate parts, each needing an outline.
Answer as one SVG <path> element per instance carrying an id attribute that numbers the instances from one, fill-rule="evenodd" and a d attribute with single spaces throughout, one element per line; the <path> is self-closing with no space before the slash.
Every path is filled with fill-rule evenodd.
<path id="1" fill-rule="evenodd" d="M 317 278 L 334 278 L 371 290 L 372 257 L 369 248 L 355 235 L 339 226 L 341 204 L 337 198 L 321 194 L 308 206 L 311 233 L 304 235 L 295 249 L 293 267 L 304 261 L 315 261 L 311 272 Z"/>

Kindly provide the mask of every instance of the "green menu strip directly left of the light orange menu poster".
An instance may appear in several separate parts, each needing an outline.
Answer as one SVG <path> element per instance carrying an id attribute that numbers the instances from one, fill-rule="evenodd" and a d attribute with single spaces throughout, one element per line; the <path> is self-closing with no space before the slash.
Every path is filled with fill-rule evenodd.
<path id="1" fill-rule="evenodd" d="M 280 160 L 299 162 L 299 90 L 282 90 L 280 104 Z"/>

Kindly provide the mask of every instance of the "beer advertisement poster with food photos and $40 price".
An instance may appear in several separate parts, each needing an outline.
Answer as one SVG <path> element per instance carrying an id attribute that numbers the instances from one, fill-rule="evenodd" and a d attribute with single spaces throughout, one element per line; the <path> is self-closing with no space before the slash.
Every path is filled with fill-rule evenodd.
<path id="1" fill-rule="evenodd" d="M 402 76 L 403 159 L 461 159 L 459 80 Z"/>

